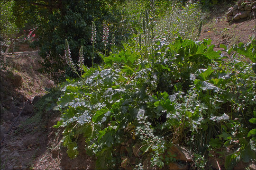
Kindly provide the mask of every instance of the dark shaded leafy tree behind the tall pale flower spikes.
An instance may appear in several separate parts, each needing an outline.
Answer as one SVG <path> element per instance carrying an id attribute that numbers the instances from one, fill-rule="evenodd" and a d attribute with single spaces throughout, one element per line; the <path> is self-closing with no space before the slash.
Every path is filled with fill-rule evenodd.
<path id="1" fill-rule="evenodd" d="M 78 61 L 78 51 L 83 46 L 84 63 L 91 66 L 92 43 L 91 22 L 97 26 L 94 50 L 103 52 L 102 24 L 106 21 L 110 34 L 115 34 L 116 42 L 121 39 L 121 18 L 117 5 L 119 1 L 108 0 L 49 0 L 49 1 L 15 1 L 13 9 L 18 18 L 16 24 L 34 22 L 38 26 L 38 41 L 34 46 L 40 47 L 40 55 L 44 59 L 44 71 L 57 79 L 64 76 L 64 40 L 68 39 L 72 59 Z M 21 17 L 20 17 L 21 16 Z M 109 51 L 109 49 L 107 49 Z M 94 54 L 94 62 L 100 58 Z M 69 74 L 67 72 L 67 74 Z"/>

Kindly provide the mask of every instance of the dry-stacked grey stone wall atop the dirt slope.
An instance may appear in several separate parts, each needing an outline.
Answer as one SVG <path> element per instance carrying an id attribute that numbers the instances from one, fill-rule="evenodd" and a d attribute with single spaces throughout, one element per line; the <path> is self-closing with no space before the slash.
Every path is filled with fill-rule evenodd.
<path id="1" fill-rule="evenodd" d="M 239 20 L 243 18 L 256 18 L 255 0 L 238 0 L 238 4 L 229 8 L 227 12 L 227 21 Z"/>

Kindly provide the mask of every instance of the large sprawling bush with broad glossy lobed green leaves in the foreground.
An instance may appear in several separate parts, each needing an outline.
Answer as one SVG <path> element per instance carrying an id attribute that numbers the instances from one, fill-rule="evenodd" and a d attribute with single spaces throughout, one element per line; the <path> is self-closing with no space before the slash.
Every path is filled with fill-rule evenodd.
<path id="1" fill-rule="evenodd" d="M 131 39 L 125 49 L 102 55 L 102 66 L 83 67 L 82 78 L 67 79 L 55 109 L 63 112 L 56 127 L 65 127 L 69 156 L 78 154 L 76 141 L 84 137 L 88 154 L 103 169 L 119 168 L 121 155 L 114 151 L 131 138 L 160 168 L 168 163 L 161 155 L 172 144 L 201 157 L 227 156 L 228 169 L 255 159 L 255 73 L 238 60 L 255 59 L 255 39 L 247 48 L 222 45 L 233 53 L 229 62 L 209 45 L 210 40 L 181 37 L 168 45 L 158 41 L 143 59 L 140 44 Z M 234 141 L 236 151 L 219 152 Z"/>

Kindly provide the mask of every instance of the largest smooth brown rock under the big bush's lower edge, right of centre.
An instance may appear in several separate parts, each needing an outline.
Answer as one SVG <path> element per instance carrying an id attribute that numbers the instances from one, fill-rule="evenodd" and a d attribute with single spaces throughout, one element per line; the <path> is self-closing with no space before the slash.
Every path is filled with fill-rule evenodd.
<path id="1" fill-rule="evenodd" d="M 171 148 L 168 149 L 171 155 L 177 155 L 175 157 L 176 160 L 181 161 L 192 161 L 191 153 L 184 147 L 179 146 L 178 144 L 174 144 Z"/>

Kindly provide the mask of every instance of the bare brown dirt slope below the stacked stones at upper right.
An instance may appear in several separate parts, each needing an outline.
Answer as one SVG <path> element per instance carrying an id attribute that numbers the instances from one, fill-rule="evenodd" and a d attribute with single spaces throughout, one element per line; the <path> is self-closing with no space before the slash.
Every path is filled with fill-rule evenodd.
<path id="1" fill-rule="evenodd" d="M 209 21 L 202 26 L 199 40 L 211 39 L 215 44 L 215 50 L 222 50 L 219 44 L 233 46 L 239 42 L 247 43 L 253 35 L 256 35 L 256 19 L 245 18 L 238 21 L 228 22 L 223 17 L 228 12 L 229 7 L 226 3 L 220 4 L 219 9 L 212 9 Z M 222 17 L 219 18 L 218 17 Z"/>

